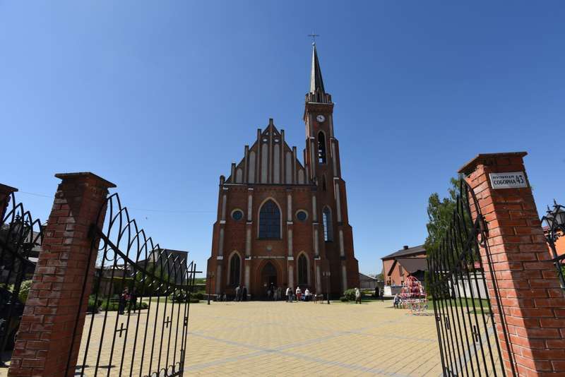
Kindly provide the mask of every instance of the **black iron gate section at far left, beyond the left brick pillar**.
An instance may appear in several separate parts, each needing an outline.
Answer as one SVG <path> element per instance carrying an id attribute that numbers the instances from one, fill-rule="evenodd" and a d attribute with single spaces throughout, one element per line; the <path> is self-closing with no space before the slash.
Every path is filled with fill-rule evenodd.
<path id="1" fill-rule="evenodd" d="M 13 349 L 35 271 L 42 226 L 11 193 L 0 201 L 0 352 Z M 36 259 L 35 259 L 36 260 Z M 25 282 L 29 280 L 28 282 Z M 25 283 L 24 283 L 25 282 Z M 22 287 L 22 283 L 27 287 Z M 22 289 L 23 288 L 23 289 Z M 4 363 L 0 361 L 0 366 Z"/>

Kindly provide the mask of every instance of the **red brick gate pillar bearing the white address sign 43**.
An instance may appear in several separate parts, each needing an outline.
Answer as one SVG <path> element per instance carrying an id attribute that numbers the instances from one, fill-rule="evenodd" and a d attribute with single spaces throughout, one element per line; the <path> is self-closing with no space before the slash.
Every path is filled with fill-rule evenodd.
<path id="1" fill-rule="evenodd" d="M 484 249 L 481 253 L 499 341 L 504 342 L 500 318 L 504 316 L 516 372 L 520 376 L 545 376 L 565 373 L 565 297 L 557 271 L 549 261 L 532 188 L 525 175 L 525 155 L 478 155 L 459 172 L 466 175 L 487 221 L 492 270 L 503 313 L 496 307 Z M 524 184 L 520 179 L 511 184 L 524 187 L 499 188 L 508 182 L 489 175 L 507 172 L 524 172 Z M 501 350 L 506 369 L 511 371 L 504 344 Z"/>

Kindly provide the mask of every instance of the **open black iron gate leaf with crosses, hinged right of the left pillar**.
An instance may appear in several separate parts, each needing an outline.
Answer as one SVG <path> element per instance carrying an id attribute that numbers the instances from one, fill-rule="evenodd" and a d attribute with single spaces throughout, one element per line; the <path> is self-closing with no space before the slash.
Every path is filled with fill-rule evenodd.
<path id="1" fill-rule="evenodd" d="M 182 376 L 196 264 L 153 244 L 117 193 L 102 216 L 106 209 L 102 229 L 90 229 L 93 289 L 85 291 L 85 279 L 81 302 L 88 296 L 88 307 L 77 318 L 87 316 L 82 340 L 72 346 L 77 366 L 69 357 L 67 376 Z"/>

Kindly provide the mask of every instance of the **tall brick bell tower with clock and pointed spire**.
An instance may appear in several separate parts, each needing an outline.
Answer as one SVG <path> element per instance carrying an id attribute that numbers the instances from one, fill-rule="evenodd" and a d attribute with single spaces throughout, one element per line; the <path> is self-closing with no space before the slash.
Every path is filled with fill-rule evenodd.
<path id="1" fill-rule="evenodd" d="M 304 162 L 311 181 L 317 186 L 312 200 L 315 212 L 314 249 L 320 258 L 320 269 L 323 273 L 331 273 L 330 292 L 335 295 L 347 288 L 358 287 L 359 268 L 347 219 L 347 194 L 345 181 L 341 178 L 339 143 L 333 132 L 333 102 L 323 85 L 315 42 L 312 44 L 311 64 L 310 90 L 304 104 Z M 319 274 L 316 270 L 316 275 Z"/>

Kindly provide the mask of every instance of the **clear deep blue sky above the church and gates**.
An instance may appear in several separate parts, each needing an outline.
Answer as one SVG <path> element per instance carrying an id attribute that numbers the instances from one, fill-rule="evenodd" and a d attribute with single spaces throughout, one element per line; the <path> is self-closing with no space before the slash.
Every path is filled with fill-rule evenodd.
<path id="1" fill-rule="evenodd" d="M 0 182 L 45 220 L 55 173 L 94 172 L 205 269 L 256 128 L 304 148 L 315 30 L 355 255 L 379 273 L 477 153 L 528 151 L 538 210 L 565 202 L 564 20 L 563 1 L 0 0 Z"/>

